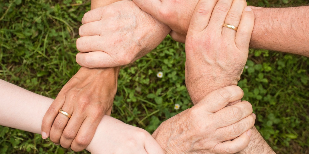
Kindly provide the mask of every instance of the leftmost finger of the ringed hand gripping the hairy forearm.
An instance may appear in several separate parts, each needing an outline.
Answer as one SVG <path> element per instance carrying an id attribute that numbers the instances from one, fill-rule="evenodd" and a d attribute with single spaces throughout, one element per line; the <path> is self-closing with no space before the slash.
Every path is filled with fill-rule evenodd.
<path id="1" fill-rule="evenodd" d="M 222 1 L 222 0 L 219 0 Z M 231 1 L 231 0 L 228 0 Z M 210 20 L 212 10 L 217 3 L 217 0 L 200 0 L 194 10 L 194 13 L 191 18 L 190 26 L 188 29 L 189 32 L 201 32 L 203 31 Z"/>

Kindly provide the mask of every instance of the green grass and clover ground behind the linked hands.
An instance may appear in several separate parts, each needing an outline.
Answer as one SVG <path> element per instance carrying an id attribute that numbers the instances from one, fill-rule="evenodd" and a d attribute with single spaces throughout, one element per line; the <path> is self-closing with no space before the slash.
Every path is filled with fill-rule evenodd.
<path id="1" fill-rule="evenodd" d="M 286 7 L 308 2 L 248 4 Z M 55 98 L 79 69 L 75 43 L 88 10 L 89 0 L 0 0 L 0 79 Z M 162 121 L 191 107 L 184 64 L 184 44 L 167 36 L 154 51 L 123 67 L 112 116 L 151 133 Z M 309 153 L 309 59 L 250 50 L 246 65 L 239 86 L 253 105 L 256 127 L 265 140 L 277 153 Z M 163 78 L 156 76 L 159 71 Z M 179 110 L 175 103 L 181 105 Z M 0 154 L 4 153 L 74 152 L 38 134 L 0 126 Z"/>

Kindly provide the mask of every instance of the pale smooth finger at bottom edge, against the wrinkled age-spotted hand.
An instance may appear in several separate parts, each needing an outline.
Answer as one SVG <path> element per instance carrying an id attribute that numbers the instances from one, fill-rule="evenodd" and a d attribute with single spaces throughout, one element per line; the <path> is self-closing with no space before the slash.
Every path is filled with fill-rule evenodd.
<path id="1" fill-rule="evenodd" d="M 146 139 L 145 150 L 148 154 L 164 154 L 159 143 L 150 135 Z"/>

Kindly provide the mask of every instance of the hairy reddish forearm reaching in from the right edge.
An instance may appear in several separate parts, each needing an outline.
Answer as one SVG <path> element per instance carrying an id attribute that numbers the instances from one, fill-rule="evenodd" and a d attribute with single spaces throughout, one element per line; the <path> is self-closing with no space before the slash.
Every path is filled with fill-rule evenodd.
<path id="1" fill-rule="evenodd" d="M 250 47 L 309 57 L 309 6 L 253 7 L 254 29 Z"/>

